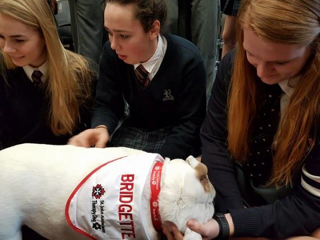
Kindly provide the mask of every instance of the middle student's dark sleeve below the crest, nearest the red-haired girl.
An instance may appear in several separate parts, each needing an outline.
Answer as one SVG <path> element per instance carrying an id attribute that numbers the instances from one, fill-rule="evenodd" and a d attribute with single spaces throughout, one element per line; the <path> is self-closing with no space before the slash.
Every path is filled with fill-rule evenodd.
<path id="1" fill-rule="evenodd" d="M 199 154 L 200 126 L 205 117 L 205 69 L 202 59 L 182 76 L 182 89 L 176 107 L 177 123 L 159 150 L 163 157 L 183 158 Z"/>

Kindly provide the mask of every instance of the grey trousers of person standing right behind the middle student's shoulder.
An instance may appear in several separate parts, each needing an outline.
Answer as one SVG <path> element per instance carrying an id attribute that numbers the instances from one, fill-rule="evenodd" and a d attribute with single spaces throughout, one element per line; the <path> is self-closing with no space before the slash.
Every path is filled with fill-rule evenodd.
<path id="1" fill-rule="evenodd" d="M 200 50 L 206 71 L 206 97 L 210 96 L 218 58 L 217 29 L 220 0 L 166 0 L 165 30 L 193 42 Z"/>

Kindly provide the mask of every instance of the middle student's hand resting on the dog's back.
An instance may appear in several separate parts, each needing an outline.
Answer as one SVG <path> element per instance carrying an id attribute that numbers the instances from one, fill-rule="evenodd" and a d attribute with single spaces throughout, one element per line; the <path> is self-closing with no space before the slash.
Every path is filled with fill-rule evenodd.
<path id="1" fill-rule="evenodd" d="M 92 145 L 95 145 L 96 147 L 105 147 L 108 139 L 109 134 L 107 129 L 99 127 L 84 130 L 79 134 L 72 136 L 67 143 L 84 147 L 90 147 Z"/>

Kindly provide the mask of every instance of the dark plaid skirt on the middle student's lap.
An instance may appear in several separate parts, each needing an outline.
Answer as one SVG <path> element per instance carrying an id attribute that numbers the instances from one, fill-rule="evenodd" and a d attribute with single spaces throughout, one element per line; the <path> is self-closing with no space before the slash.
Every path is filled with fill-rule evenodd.
<path id="1" fill-rule="evenodd" d="M 126 146 L 146 152 L 158 152 L 171 126 L 148 130 L 140 127 L 128 126 L 123 122 L 112 134 L 107 146 Z"/>

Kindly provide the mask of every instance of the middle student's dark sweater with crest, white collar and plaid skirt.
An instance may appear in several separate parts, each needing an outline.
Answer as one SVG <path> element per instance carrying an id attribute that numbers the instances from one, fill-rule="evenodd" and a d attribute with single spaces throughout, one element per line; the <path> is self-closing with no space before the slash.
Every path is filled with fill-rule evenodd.
<path id="1" fill-rule="evenodd" d="M 106 125 L 112 134 L 127 103 L 127 116 L 108 146 L 128 146 L 171 158 L 199 154 L 206 103 L 205 70 L 198 49 L 184 38 L 165 34 L 159 36 L 153 56 L 142 64 L 149 72 L 146 87 L 137 81 L 137 66 L 119 59 L 110 42 L 105 43 L 92 127 Z"/>

